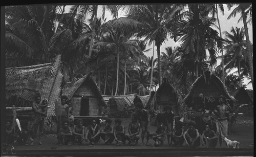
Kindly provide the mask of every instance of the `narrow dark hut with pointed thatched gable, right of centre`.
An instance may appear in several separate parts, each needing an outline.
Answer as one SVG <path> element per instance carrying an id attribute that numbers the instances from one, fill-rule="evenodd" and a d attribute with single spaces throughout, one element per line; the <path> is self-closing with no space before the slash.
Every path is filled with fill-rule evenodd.
<path id="1" fill-rule="evenodd" d="M 183 115 L 184 102 L 181 94 L 173 85 L 171 85 L 166 78 L 163 78 L 163 82 L 157 89 L 155 94 L 155 110 L 163 112 L 164 105 L 172 106 L 172 110 L 175 116 Z"/>

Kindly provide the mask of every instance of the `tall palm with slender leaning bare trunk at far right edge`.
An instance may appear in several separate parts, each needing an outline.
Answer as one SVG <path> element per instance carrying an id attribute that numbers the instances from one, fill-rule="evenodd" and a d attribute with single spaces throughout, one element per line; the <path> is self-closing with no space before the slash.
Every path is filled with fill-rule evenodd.
<path id="1" fill-rule="evenodd" d="M 251 4 L 248 3 L 241 3 L 241 4 L 234 4 L 234 6 L 237 6 L 233 9 L 233 11 L 230 13 L 230 15 L 227 17 L 227 19 L 230 19 L 231 17 L 235 17 L 237 13 L 241 13 L 241 17 L 239 18 L 238 22 L 243 20 L 244 24 L 244 31 L 245 31 L 245 37 L 246 37 L 246 44 L 248 48 L 249 53 L 249 67 L 250 67 L 250 76 L 251 76 L 251 83 L 253 88 L 253 61 L 252 61 L 252 46 L 249 39 L 249 33 L 248 33 L 248 26 L 247 26 L 247 17 L 251 17 Z M 228 8 L 231 9 L 230 7 Z"/>

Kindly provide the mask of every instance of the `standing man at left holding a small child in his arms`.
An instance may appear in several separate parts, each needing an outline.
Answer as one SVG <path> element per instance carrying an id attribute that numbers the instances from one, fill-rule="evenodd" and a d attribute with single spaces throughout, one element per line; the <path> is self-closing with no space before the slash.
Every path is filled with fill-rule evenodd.
<path id="1" fill-rule="evenodd" d="M 33 130 L 33 139 L 36 138 L 37 135 L 37 129 L 39 126 L 39 144 L 42 145 L 41 143 L 41 138 L 42 138 L 42 129 L 44 127 L 45 123 L 45 118 L 47 116 L 47 99 L 41 100 L 41 96 L 37 95 L 35 96 L 35 102 L 32 104 L 32 108 L 34 110 L 34 130 Z M 34 144 L 34 140 L 32 140 L 31 145 Z"/>

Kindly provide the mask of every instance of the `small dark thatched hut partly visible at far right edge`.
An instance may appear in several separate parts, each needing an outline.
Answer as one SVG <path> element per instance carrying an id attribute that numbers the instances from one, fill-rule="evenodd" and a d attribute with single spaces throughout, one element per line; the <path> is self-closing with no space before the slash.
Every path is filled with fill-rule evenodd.
<path id="1" fill-rule="evenodd" d="M 235 91 L 229 92 L 231 96 L 233 96 L 237 101 L 237 104 L 253 104 L 253 100 L 249 96 L 248 92 L 245 90 L 244 87 L 240 87 Z"/>

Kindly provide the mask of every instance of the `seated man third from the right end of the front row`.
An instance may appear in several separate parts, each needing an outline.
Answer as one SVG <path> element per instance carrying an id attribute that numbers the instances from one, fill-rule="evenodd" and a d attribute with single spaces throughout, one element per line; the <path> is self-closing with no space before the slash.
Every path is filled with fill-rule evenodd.
<path id="1" fill-rule="evenodd" d="M 170 144 L 172 144 L 172 142 L 174 142 L 175 146 L 182 146 L 182 144 L 184 143 L 184 139 L 183 139 L 183 128 L 182 128 L 183 124 L 181 121 L 177 121 L 175 124 L 175 128 L 172 130 L 171 134 L 170 134 Z"/>

